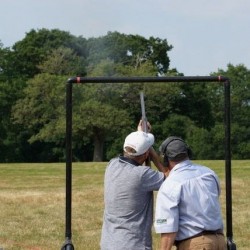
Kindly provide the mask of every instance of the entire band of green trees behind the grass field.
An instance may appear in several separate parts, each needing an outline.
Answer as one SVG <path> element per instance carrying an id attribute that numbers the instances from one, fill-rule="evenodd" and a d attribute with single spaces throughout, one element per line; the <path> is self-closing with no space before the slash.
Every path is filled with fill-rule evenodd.
<path id="1" fill-rule="evenodd" d="M 12 48 L 0 44 L 0 162 L 65 160 L 65 83 L 71 76 L 178 76 L 166 39 L 109 32 L 85 39 L 31 30 Z M 228 65 L 232 156 L 250 158 L 250 71 Z M 122 153 L 145 94 L 156 148 L 181 136 L 196 159 L 224 158 L 224 89 L 218 83 L 85 84 L 73 88 L 73 158 L 102 161 Z"/>

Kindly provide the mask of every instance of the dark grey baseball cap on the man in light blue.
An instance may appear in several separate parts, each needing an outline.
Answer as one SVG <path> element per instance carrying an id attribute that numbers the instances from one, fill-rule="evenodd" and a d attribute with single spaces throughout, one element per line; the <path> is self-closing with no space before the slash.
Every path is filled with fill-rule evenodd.
<path id="1" fill-rule="evenodd" d="M 160 152 L 169 159 L 174 159 L 180 154 L 188 154 L 187 144 L 179 137 L 170 136 L 160 146 Z"/>

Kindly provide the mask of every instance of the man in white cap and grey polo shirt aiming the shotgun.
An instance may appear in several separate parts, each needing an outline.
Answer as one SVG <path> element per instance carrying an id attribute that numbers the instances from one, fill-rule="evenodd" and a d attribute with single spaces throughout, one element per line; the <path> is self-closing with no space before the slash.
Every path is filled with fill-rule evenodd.
<path id="1" fill-rule="evenodd" d="M 104 178 L 104 216 L 101 250 L 151 250 L 153 191 L 166 169 L 152 148 L 154 136 L 138 130 L 124 142 L 124 155 L 112 159 Z M 143 166 L 150 157 L 159 171 Z"/>

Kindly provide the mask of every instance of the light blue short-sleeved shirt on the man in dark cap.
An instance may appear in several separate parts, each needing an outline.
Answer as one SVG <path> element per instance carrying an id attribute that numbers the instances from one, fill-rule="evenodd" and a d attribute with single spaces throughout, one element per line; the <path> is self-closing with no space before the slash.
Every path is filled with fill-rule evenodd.
<path id="1" fill-rule="evenodd" d="M 204 230 L 223 229 L 219 179 L 211 169 L 190 160 L 177 164 L 156 200 L 156 233 L 177 232 L 176 240 Z"/>

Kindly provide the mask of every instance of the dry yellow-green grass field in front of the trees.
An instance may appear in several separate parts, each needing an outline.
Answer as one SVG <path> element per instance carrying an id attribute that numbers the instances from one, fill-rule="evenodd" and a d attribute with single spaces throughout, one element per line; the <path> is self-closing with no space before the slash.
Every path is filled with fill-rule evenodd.
<path id="1" fill-rule="evenodd" d="M 224 161 L 197 162 L 221 179 L 225 220 Z M 99 249 L 105 166 L 73 164 L 72 242 L 77 250 Z M 0 164 L 0 178 L 0 249 L 60 249 L 65 241 L 65 163 Z M 239 250 L 250 249 L 249 179 L 250 160 L 232 161 L 233 232 Z M 153 233 L 153 239 L 157 250 L 159 235 Z"/>

